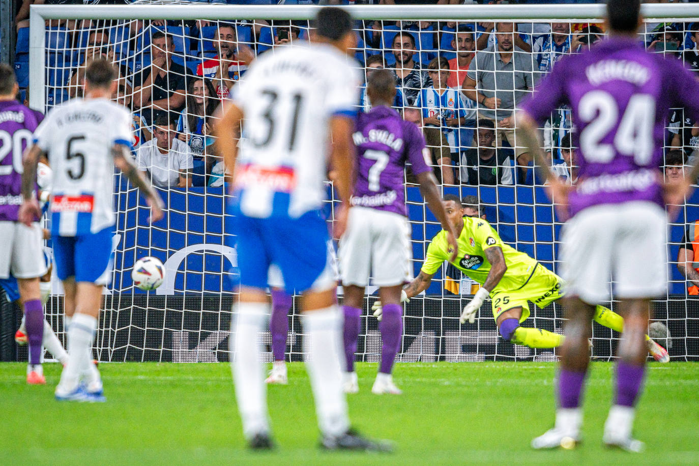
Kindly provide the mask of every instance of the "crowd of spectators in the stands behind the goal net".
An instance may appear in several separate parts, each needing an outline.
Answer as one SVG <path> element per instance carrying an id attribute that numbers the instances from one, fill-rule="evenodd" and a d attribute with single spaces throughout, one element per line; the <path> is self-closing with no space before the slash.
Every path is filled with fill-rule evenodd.
<path id="1" fill-rule="evenodd" d="M 28 10 L 24 10 L 29 3 L 24 1 L 16 18 L 15 73 L 22 92 L 29 85 Z M 532 157 L 515 140 L 513 111 L 556 61 L 599 41 L 604 34 L 600 26 L 364 20 L 355 25 L 355 58 L 364 78 L 377 68 L 394 73 L 394 106 L 420 126 L 442 184 L 538 184 Z M 106 57 L 120 71 L 115 99 L 132 111 L 134 155 L 154 183 L 220 185 L 224 166 L 212 134 L 219 105 L 236 82 L 245 79 L 255 57 L 301 45 L 308 41 L 308 29 L 307 21 L 280 20 L 54 20 L 46 33 L 46 103 L 50 108 L 80 96 L 85 66 L 95 57 Z M 699 23 L 647 23 L 639 40 L 649 51 L 677 56 L 699 71 Z M 361 111 L 370 109 L 366 89 L 357 105 Z M 552 167 L 572 182 L 575 138 L 570 121 L 570 110 L 559 108 L 542 134 Z M 683 163 L 696 156 L 698 128 L 684 118 L 682 109 L 673 111 L 666 135 L 668 152 L 681 151 Z M 172 173 L 165 175 L 162 170 Z"/>

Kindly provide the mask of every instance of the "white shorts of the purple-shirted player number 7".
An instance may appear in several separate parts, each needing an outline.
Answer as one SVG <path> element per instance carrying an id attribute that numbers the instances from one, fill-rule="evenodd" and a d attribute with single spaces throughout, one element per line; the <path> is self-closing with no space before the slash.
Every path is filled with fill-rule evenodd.
<path id="1" fill-rule="evenodd" d="M 369 207 L 349 209 L 347 231 L 340 238 L 343 286 L 396 286 L 409 282 L 410 226 L 401 214 Z"/>

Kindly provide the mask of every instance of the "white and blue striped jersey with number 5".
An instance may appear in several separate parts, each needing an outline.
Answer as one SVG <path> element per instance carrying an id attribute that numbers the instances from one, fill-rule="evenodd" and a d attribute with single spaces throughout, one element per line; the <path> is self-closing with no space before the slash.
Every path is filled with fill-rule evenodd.
<path id="1" fill-rule="evenodd" d="M 49 112 L 34 143 L 53 171 L 53 235 L 85 235 L 114 224 L 111 148 L 131 147 L 131 138 L 131 113 L 108 99 L 72 99 Z"/>

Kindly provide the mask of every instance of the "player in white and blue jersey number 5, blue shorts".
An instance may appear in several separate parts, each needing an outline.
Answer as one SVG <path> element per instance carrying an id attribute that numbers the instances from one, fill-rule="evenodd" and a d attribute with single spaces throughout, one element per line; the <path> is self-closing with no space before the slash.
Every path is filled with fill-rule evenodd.
<path id="1" fill-rule="evenodd" d="M 85 98 L 54 108 L 34 133 L 24 157 L 19 218 L 41 217 L 32 196 L 36 166 L 48 156 L 53 169 L 49 215 L 56 272 L 65 291 L 69 361 L 56 387 L 59 401 L 104 401 L 99 371 L 92 363 L 102 287 L 111 277 L 113 165 L 145 192 L 152 220 L 162 218 L 162 201 L 131 161 L 131 115 L 110 101 L 117 73 L 106 60 L 85 71 Z"/>

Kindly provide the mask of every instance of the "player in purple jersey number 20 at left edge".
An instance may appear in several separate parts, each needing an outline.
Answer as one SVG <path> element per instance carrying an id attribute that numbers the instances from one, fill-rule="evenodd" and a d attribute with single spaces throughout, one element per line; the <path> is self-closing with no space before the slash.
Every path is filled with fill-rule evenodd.
<path id="1" fill-rule="evenodd" d="M 15 100 L 15 72 L 0 64 L 0 279 L 17 278 L 29 342 L 28 384 L 45 384 L 41 367 L 43 306 L 39 277 L 46 273 L 41 248 L 42 230 L 34 222 L 17 221 L 22 205 L 22 152 L 31 143 L 38 123 L 34 111 Z"/>

